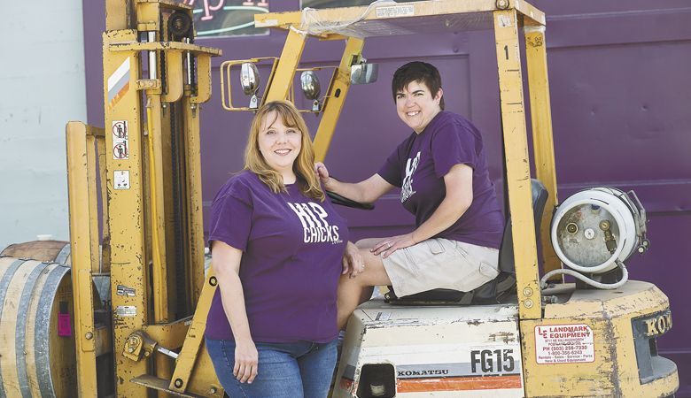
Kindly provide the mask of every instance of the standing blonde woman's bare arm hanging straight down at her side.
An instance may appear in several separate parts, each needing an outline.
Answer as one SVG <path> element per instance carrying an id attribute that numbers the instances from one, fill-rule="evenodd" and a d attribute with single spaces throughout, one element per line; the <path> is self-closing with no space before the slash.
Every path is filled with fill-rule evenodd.
<path id="1" fill-rule="evenodd" d="M 221 302 L 233 329 L 236 344 L 233 375 L 241 383 L 252 383 L 257 377 L 259 354 L 250 334 L 245 296 L 239 276 L 243 252 L 222 241 L 214 241 L 212 245 L 212 264 L 218 279 L 218 288 L 221 289 Z"/>

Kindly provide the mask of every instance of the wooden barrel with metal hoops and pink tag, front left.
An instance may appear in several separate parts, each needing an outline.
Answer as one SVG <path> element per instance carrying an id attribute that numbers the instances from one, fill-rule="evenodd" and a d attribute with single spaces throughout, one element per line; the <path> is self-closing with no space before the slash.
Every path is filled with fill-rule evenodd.
<path id="1" fill-rule="evenodd" d="M 0 257 L 0 396 L 77 396 L 69 272 Z"/>

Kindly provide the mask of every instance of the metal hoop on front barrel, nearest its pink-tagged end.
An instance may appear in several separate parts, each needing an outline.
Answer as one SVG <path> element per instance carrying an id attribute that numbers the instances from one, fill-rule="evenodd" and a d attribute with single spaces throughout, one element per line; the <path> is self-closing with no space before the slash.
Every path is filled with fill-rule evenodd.
<path id="1" fill-rule="evenodd" d="M 53 299 L 58 293 L 60 281 L 70 269 L 65 265 L 51 265 L 55 265 L 55 268 L 50 270 L 48 279 L 46 279 L 45 285 L 43 285 L 41 297 L 38 300 L 34 347 L 36 373 L 41 396 L 55 398 L 53 380 L 50 375 L 50 310 L 52 308 Z"/>

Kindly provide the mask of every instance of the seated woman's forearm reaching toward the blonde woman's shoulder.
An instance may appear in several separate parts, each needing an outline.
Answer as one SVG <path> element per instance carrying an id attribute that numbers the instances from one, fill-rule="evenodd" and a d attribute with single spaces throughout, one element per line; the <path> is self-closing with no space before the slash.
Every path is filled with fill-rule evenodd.
<path id="1" fill-rule="evenodd" d="M 386 182 L 379 174 L 374 174 L 369 179 L 358 183 L 349 183 L 336 180 L 329 176 L 329 170 L 323 163 L 314 164 L 314 172 L 322 181 L 327 191 L 334 192 L 355 202 L 373 203 L 381 195 L 389 192 L 393 186 Z"/>

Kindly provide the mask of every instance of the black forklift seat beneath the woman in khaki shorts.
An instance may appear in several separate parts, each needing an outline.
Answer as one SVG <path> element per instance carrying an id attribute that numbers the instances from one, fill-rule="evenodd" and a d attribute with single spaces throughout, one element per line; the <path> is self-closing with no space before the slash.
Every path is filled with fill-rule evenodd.
<path id="1" fill-rule="evenodd" d="M 540 238 L 540 220 L 547 202 L 547 189 L 539 181 L 531 180 L 532 213 L 535 220 L 535 237 Z M 476 287 L 470 292 L 452 289 L 433 289 L 415 295 L 398 297 L 389 287 L 384 295 L 386 302 L 395 305 L 445 305 L 445 304 L 496 304 L 509 298 L 516 288 L 516 264 L 514 264 L 514 244 L 511 233 L 511 218 L 507 218 L 504 235 L 499 249 L 499 275 L 495 279 Z"/>

